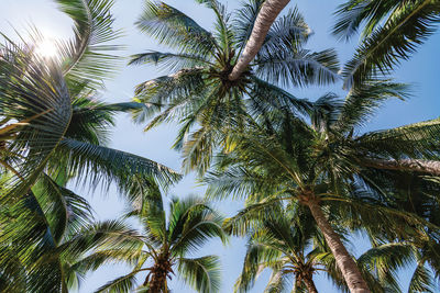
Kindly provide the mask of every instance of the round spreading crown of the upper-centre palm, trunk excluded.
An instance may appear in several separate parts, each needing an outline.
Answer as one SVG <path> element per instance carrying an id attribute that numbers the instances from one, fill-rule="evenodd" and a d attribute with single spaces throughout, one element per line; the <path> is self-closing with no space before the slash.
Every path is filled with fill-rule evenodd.
<path id="1" fill-rule="evenodd" d="M 154 116 L 146 129 L 161 122 L 179 121 L 175 147 L 184 149 L 189 169 L 205 171 L 218 143 L 216 131 L 240 126 L 243 113 L 276 103 L 308 109 L 308 102 L 267 81 L 323 84 L 338 79 L 339 68 L 333 50 L 314 53 L 305 48 L 311 31 L 294 9 L 274 23 L 255 60 L 231 81 L 229 75 L 264 1 L 244 3 L 234 14 L 216 0 L 198 2 L 213 11 L 213 32 L 164 2 L 147 1 L 138 26 L 175 53 L 150 50 L 133 56 L 130 64 L 154 64 L 172 72 L 138 86 L 136 101 L 146 108 L 134 117 L 142 122 Z"/>

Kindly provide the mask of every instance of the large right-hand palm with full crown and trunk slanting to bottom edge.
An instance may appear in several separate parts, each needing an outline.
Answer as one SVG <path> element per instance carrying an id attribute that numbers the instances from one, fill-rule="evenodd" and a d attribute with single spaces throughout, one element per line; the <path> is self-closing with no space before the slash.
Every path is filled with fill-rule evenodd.
<path id="1" fill-rule="evenodd" d="M 310 123 L 287 108 L 274 111 L 270 122 L 264 117 L 250 121 L 245 131 L 226 140 L 219 170 L 206 180 L 211 183 L 211 193 L 245 194 L 253 203 L 249 210 L 264 209 L 274 201 L 298 201 L 310 210 L 350 291 L 370 292 L 328 215 L 345 211 L 361 225 L 373 226 L 380 219 L 393 223 L 402 217 L 405 225 L 418 223 L 438 230 L 425 218 L 388 204 L 383 200 L 388 196 L 386 192 L 370 191 L 381 191 L 382 185 L 376 185 L 365 170 L 383 170 L 365 161 L 384 157 L 435 159 L 439 155 L 433 138 L 440 131 L 439 120 L 354 134 L 354 127 L 392 97 L 404 98 L 405 86 L 371 81 L 350 91 L 344 102 L 329 94 L 318 99 Z M 245 213 L 240 218 L 245 221 Z"/>

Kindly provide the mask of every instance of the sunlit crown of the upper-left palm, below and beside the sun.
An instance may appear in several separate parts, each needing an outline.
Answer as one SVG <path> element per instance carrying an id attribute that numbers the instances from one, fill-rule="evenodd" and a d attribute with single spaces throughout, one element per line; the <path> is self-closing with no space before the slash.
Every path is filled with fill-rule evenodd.
<path id="1" fill-rule="evenodd" d="M 112 2 L 57 2 L 74 19 L 75 37 L 58 43 L 56 58 L 38 56 L 32 44 L 18 45 L 8 38 L 0 48 L 0 162 L 13 173 L 2 198 L 25 193 L 45 168 L 50 173 L 87 169 L 95 171 L 96 181 L 116 179 L 121 187 L 130 177 L 155 177 L 165 185 L 170 183 L 178 177 L 172 170 L 102 144 L 111 114 L 139 108 L 103 104 L 94 98 L 96 84 L 111 70 L 113 60 L 102 53 L 113 48 L 107 42 L 118 36 L 111 27 Z"/>

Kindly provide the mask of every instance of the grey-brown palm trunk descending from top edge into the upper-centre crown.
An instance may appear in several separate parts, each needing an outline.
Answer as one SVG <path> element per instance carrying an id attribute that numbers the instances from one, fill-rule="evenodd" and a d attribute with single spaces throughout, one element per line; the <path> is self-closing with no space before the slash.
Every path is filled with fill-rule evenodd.
<path id="1" fill-rule="evenodd" d="M 241 74 L 246 70 L 249 64 L 255 58 L 263 45 L 264 38 L 266 37 L 272 23 L 274 23 L 276 16 L 278 16 L 279 12 L 288 2 L 290 2 L 290 0 L 266 0 L 263 3 L 243 54 L 240 56 L 232 72 L 229 75 L 229 80 L 238 79 Z"/>

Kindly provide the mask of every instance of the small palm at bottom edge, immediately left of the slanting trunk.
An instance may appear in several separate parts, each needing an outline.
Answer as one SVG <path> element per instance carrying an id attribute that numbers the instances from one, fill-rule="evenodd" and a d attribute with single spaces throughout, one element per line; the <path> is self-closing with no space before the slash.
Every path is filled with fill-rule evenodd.
<path id="1" fill-rule="evenodd" d="M 317 270 L 321 270 L 319 260 L 315 258 L 319 248 L 306 251 L 317 233 L 315 224 L 311 218 L 307 222 L 307 217 L 310 217 L 307 214 L 298 216 L 283 210 L 268 213 L 266 218 L 248 232 L 248 251 L 235 292 L 250 290 L 258 273 L 266 268 L 272 269 L 266 292 L 288 291 L 292 281 L 295 292 L 304 286 L 308 292 L 318 292 L 312 278 Z"/>

